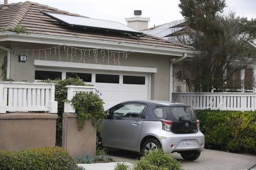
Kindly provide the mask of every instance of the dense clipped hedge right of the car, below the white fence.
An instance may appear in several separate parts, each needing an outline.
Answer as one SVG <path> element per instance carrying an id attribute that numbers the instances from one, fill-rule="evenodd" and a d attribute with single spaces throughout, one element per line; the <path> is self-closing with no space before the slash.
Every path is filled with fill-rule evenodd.
<path id="1" fill-rule="evenodd" d="M 196 111 L 205 147 L 256 153 L 256 111 Z"/>

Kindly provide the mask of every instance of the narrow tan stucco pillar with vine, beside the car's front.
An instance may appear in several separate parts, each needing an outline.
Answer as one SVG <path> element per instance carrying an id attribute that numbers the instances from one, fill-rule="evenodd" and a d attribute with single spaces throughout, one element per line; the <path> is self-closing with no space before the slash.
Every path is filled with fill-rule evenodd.
<path id="1" fill-rule="evenodd" d="M 77 114 L 63 113 L 62 147 L 72 156 L 96 154 L 96 128 L 90 121 L 77 130 Z"/>

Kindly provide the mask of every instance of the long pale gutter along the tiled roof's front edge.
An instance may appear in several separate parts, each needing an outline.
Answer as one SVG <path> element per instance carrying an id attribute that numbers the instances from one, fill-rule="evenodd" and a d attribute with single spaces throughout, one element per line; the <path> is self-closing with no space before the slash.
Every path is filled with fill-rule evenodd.
<path id="1" fill-rule="evenodd" d="M 40 44 L 52 45 L 69 45 L 79 46 L 84 48 L 101 48 L 110 50 L 121 50 L 129 52 L 150 53 L 150 54 L 163 54 L 167 56 L 183 57 L 183 53 L 187 53 L 187 57 L 194 57 L 199 53 L 191 49 L 178 49 L 178 48 L 163 48 L 158 46 L 129 44 L 124 42 L 103 41 L 93 39 L 79 39 L 75 37 L 62 37 L 50 36 L 39 34 L 24 34 L 15 32 L 2 32 L 0 33 L 0 41 L 18 41 L 18 42 L 32 42 Z"/>

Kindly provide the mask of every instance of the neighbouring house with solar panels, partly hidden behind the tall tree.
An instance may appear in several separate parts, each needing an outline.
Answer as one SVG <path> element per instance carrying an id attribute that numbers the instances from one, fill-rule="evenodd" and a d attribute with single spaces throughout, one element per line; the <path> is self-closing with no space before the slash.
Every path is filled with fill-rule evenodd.
<path id="1" fill-rule="evenodd" d="M 174 43 L 189 42 L 189 31 L 191 31 L 191 28 L 189 28 L 189 25 L 184 19 L 143 30 L 147 35 L 161 37 Z M 255 46 L 255 44 L 256 41 L 251 45 Z M 230 67 L 227 69 L 226 75 L 224 75 L 231 77 L 226 82 L 228 91 L 256 92 L 256 65 L 250 65 L 246 69 L 236 68 L 236 70 L 237 71 L 234 72 L 234 68 Z M 174 92 L 189 92 L 187 84 L 182 77 L 181 67 L 179 63 L 177 63 L 174 65 Z"/>

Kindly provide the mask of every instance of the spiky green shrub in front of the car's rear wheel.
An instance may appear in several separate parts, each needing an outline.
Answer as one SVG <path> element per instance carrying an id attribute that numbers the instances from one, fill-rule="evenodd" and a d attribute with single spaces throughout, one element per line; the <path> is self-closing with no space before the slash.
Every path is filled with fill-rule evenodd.
<path id="1" fill-rule="evenodd" d="M 144 155 L 133 165 L 134 170 L 179 170 L 182 169 L 181 164 L 163 150 L 153 150 Z"/>

